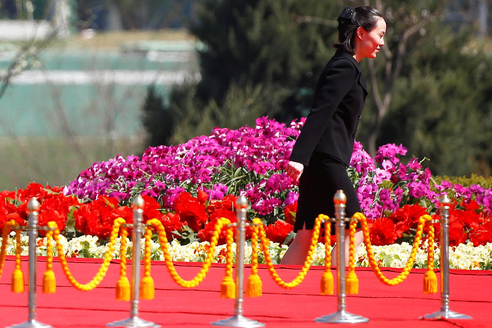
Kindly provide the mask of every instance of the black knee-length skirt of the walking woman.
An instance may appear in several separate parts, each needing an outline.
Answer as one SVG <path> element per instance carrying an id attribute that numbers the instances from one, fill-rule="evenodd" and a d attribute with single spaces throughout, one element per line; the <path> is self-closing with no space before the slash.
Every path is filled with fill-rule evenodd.
<path id="1" fill-rule="evenodd" d="M 347 197 L 345 216 L 350 218 L 354 213 L 361 212 L 359 199 L 347 175 L 345 164 L 328 154 L 314 152 L 299 180 L 299 200 L 294 231 L 302 230 L 304 223 L 306 229 L 313 229 L 314 220 L 319 214 L 335 218 L 333 197 L 339 189 L 343 190 Z M 346 223 L 346 228 L 348 227 L 349 222 Z M 335 234 L 334 224 L 331 231 Z"/>

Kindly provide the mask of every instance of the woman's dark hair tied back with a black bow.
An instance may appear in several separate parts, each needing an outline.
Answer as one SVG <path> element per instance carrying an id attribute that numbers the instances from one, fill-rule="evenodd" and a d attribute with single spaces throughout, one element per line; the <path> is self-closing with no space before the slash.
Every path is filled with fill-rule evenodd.
<path id="1" fill-rule="evenodd" d="M 355 9 L 345 7 L 337 19 L 339 43 L 333 46 L 354 55 L 354 37 L 357 28 L 362 27 L 368 32 L 372 31 L 379 18 L 383 18 L 383 15 L 377 9 L 369 6 L 360 6 Z"/>

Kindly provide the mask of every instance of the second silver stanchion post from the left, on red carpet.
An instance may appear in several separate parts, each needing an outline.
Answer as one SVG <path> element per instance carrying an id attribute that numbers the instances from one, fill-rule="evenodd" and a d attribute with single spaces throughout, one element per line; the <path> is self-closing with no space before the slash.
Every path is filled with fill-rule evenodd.
<path id="1" fill-rule="evenodd" d="M 140 293 L 140 239 L 142 237 L 142 220 L 144 212 L 144 199 L 141 196 L 135 197 L 132 202 L 133 205 L 133 230 L 131 234 L 132 239 L 132 299 L 130 308 L 130 318 L 115 321 L 113 323 L 107 324 L 108 327 L 160 327 L 160 325 L 154 324 L 153 322 L 140 319 L 138 317 L 138 303 L 139 303 L 139 293 Z"/>

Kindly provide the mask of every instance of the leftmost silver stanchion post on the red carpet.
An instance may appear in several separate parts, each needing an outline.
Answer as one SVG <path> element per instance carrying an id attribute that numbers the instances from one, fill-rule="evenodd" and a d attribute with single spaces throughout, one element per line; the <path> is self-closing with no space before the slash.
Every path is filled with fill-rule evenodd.
<path id="1" fill-rule="evenodd" d="M 29 315 L 28 321 L 11 326 L 12 328 L 28 328 L 28 327 L 53 327 L 50 325 L 42 324 L 36 320 L 36 238 L 37 238 L 37 211 L 39 210 L 39 202 L 36 198 L 32 197 L 28 202 L 29 210 L 29 296 L 28 307 Z"/>

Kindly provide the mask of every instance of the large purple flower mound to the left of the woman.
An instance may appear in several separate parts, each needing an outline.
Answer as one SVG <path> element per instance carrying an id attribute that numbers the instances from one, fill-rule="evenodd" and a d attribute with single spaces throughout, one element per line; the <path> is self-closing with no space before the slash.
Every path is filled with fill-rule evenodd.
<path id="1" fill-rule="evenodd" d="M 244 194 L 258 213 L 269 214 L 281 206 L 294 181 L 283 168 L 304 120 L 290 126 L 258 118 L 254 128 L 215 128 L 176 146 L 149 147 L 142 158 L 117 156 L 94 163 L 65 189 L 82 199 L 108 195 L 128 200 L 149 195 L 172 209 L 182 191 L 203 189 L 211 199 L 229 193 Z M 292 196 L 288 197 L 289 202 Z"/>

